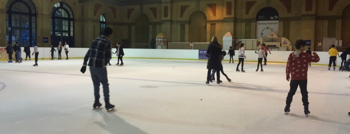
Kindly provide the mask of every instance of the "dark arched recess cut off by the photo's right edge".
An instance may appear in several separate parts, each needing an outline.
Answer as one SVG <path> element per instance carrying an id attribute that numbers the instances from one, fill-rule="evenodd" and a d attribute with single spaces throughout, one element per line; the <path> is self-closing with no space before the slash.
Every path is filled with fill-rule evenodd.
<path id="1" fill-rule="evenodd" d="M 347 5 L 342 11 L 341 40 L 343 44 L 350 43 L 350 5 Z"/>

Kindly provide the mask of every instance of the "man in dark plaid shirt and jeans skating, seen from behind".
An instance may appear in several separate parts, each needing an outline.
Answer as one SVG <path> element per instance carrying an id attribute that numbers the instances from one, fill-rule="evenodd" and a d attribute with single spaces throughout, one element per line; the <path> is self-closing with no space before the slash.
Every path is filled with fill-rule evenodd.
<path id="1" fill-rule="evenodd" d="M 109 102 L 109 83 L 107 77 L 107 68 L 109 60 L 111 59 L 111 42 L 108 40 L 113 33 L 112 28 L 106 27 L 104 29 L 104 35 L 96 38 L 88 52 L 84 57 L 83 67 L 81 68 L 81 72 L 85 73 L 87 62 L 89 61 L 91 78 L 94 83 L 94 95 L 95 102 L 93 108 L 98 108 L 102 106 L 100 103 L 100 83 L 103 85 L 103 94 L 105 99 L 105 107 L 107 110 L 114 109 L 114 105 Z"/>

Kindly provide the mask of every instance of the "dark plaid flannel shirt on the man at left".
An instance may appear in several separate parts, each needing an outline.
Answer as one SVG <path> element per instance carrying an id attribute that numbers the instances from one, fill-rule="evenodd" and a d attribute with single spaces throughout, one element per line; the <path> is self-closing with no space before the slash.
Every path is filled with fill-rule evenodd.
<path id="1" fill-rule="evenodd" d="M 106 36 L 101 36 L 92 42 L 91 47 L 84 57 L 83 65 L 86 66 L 90 59 L 89 66 L 106 67 L 111 58 L 111 42 Z"/>

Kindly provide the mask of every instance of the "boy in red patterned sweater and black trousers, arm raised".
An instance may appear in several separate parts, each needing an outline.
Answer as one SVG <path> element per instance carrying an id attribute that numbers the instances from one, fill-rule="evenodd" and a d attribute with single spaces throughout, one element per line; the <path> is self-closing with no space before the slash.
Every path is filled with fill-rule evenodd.
<path id="1" fill-rule="evenodd" d="M 293 95 L 297 87 L 300 87 L 300 92 L 302 95 L 302 103 L 304 105 L 304 113 L 308 115 L 310 111 L 308 110 L 308 96 L 307 96 L 307 69 L 309 62 L 318 62 L 319 56 L 316 52 L 309 54 L 303 52 L 305 49 L 306 42 L 302 39 L 295 41 L 295 48 L 297 50 L 291 52 L 288 57 L 287 66 L 285 68 L 286 79 L 290 79 L 290 89 L 285 100 L 284 112 L 288 113 L 290 111 L 290 103 L 293 99 Z M 290 74 L 290 76 L 289 76 Z"/>

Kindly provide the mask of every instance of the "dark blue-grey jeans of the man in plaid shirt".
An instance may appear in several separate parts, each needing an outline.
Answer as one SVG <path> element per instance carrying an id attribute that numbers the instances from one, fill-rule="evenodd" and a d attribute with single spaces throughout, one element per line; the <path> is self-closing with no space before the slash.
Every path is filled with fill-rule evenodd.
<path id="1" fill-rule="evenodd" d="M 109 99 L 109 83 L 107 77 L 107 67 L 92 67 L 90 66 L 91 78 L 94 83 L 94 95 L 100 98 L 100 83 L 103 86 L 103 95 L 105 99 Z"/>

